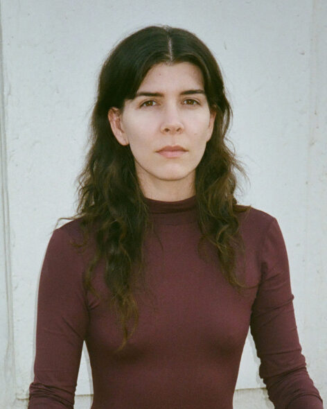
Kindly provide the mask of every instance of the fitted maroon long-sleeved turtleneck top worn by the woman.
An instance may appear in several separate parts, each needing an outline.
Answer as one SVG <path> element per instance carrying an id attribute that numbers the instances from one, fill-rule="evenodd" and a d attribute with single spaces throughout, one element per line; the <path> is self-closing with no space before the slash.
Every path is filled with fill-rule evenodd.
<path id="1" fill-rule="evenodd" d="M 116 313 L 82 285 L 94 241 L 86 252 L 73 247 L 82 241 L 79 220 L 53 232 L 39 280 L 28 409 L 73 408 L 83 342 L 94 386 L 91 409 L 232 409 L 249 330 L 275 408 L 323 408 L 301 354 L 276 218 L 253 207 L 238 214 L 245 243 L 238 277 L 252 286 L 238 293 L 222 275 L 215 246 L 205 241 L 205 255 L 198 252 L 196 197 L 145 200 L 154 222 L 143 243 L 152 297 L 134 293 L 139 324 L 118 354 L 123 333 Z M 100 262 L 92 284 L 108 295 L 104 270 Z"/>

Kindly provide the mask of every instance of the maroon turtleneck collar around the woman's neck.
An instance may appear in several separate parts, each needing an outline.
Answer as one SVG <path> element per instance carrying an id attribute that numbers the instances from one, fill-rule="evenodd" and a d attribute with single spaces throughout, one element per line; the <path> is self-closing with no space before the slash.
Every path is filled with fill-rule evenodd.
<path id="1" fill-rule="evenodd" d="M 196 195 L 175 202 L 145 198 L 145 204 L 147 204 L 150 215 L 156 223 L 183 225 L 197 220 Z"/>

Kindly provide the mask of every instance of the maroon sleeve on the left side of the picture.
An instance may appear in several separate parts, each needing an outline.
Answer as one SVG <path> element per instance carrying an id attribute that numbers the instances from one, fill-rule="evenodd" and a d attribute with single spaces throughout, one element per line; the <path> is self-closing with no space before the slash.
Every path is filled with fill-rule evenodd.
<path id="1" fill-rule="evenodd" d="M 73 408 L 89 320 L 82 268 L 70 236 L 62 228 L 55 229 L 39 279 L 34 381 L 28 409 Z"/>

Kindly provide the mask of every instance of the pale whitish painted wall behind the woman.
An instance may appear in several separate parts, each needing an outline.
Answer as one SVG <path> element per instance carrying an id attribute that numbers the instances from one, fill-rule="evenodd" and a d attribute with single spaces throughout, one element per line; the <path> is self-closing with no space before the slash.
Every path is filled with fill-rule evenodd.
<path id="1" fill-rule="evenodd" d="M 1 408 L 27 404 L 39 272 L 55 222 L 75 209 L 100 65 L 150 24 L 193 31 L 222 66 L 251 180 L 238 198 L 279 220 L 303 354 L 327 401 L 326 21 L 324 0 L 1 0 Z M 258 364 L 249 336 L 236 409 L 272 408 Z M 85 349 L 76 408 L 90 392 Z"/>

